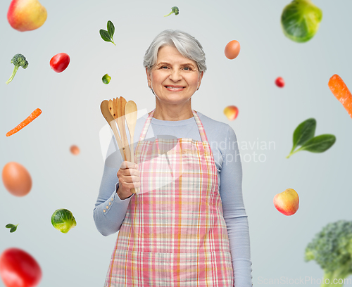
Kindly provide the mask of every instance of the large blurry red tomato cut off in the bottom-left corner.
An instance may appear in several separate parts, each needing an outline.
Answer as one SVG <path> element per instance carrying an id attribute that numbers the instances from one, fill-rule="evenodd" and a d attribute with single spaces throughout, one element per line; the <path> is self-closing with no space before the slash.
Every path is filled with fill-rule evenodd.
<path id="1" fill-rule="evenodd" d="M 29 253 L 8 248 L 0 256 L 0 275 L 6 287 L 34 287 L 42 279 L 42 269 Z"/>

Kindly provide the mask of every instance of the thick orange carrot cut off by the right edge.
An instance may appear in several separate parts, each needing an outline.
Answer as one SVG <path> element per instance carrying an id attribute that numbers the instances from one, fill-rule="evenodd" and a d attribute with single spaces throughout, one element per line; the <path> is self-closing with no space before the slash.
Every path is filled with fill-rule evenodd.
<path id="1" fill-rule="evenodd" d="M 333 75 L 329 79 L 328 86 L 332 94 L 342 103 L 342 106 L 347 110 L 348 115 L 352 117 L 352 94 L 348 91 L 346 84 L 339 75 Z"/>

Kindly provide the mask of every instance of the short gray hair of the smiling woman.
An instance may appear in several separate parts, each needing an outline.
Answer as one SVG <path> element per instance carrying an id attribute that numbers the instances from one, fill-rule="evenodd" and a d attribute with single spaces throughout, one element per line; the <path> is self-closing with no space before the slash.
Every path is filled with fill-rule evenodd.
<path id="1" fill-rule="evenodd" d="M 153 68 L 158 58 L 158 51 L 163 46 L 174 46 L 182 56 L 196 62 L 199 72 L 206 71 L 206 54 L 201 43 L 190 34 L 180 30 L 165 30 L 153 39 L 144 55 L 144 68 L 148 70 Z"/>

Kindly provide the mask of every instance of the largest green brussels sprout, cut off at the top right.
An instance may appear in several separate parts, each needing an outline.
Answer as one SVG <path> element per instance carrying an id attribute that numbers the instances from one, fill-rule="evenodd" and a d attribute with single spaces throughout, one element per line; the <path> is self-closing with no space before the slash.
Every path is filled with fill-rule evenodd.
<path id="1" fill-rule="evenodd" d="M 322 11 L 311 0 L 294 0 L 284 8 L 281 25 L 286 37 L 307 42 L 318 32 Z"/>

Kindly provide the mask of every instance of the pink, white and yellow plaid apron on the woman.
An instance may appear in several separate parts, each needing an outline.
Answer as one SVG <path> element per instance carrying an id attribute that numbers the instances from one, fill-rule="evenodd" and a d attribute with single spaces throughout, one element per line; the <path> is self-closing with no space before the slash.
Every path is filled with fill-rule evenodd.
<path id="1" fill-rule="evenodd" d="M 144 124 L 134 151 L 141 188 L 128 205 L 105 287 L 234 286 L 218 171 L 192 112 L 201 141 L 144 141 L 154 110 Z"/>

